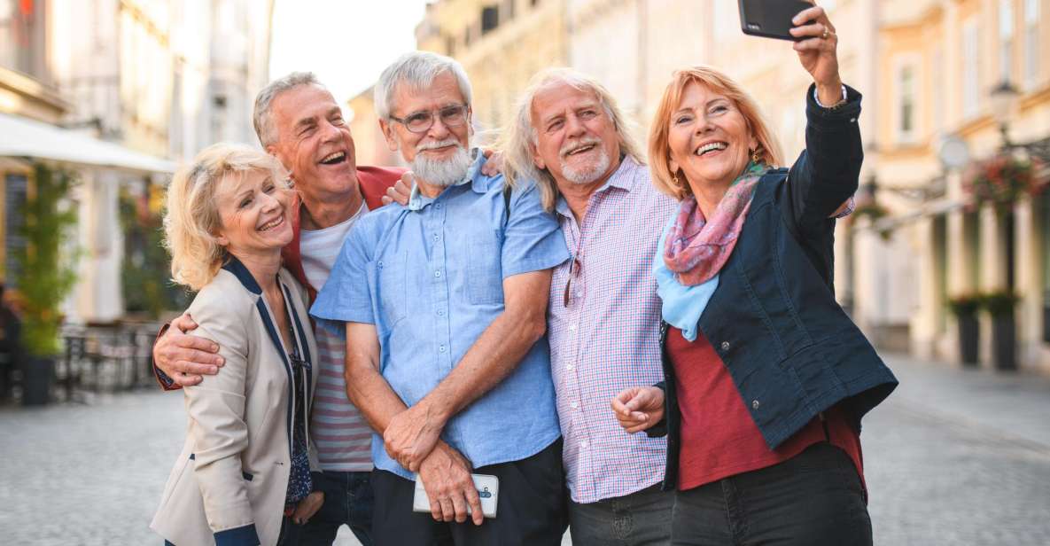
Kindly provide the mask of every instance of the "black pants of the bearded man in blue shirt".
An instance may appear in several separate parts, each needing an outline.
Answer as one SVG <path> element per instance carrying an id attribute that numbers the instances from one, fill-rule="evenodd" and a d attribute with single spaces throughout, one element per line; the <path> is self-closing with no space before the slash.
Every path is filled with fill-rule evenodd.
<path id="1" fill-rule="evenodd" d="M 412 511 L 416 484 L 385 470 L 376 469 L 372 485 L 376 494 L 372 522 L 376 546 L 558 546 L 565 533 L 562 440 L 520 461 L 475 468 L 500 479 L 496 518 L 476 526 L 436 522 L 429 513 Z"/>

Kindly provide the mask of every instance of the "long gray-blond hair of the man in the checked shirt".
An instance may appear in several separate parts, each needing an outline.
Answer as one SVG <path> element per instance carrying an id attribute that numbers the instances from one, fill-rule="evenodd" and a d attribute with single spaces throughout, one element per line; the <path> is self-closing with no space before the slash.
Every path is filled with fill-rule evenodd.
<path id="1" fill-rule="evenodd" d="M 612 120 L 620 136 L 620 152 L 645 165 L 645 154 L 631 135 L 629 119 L 621 111 L 616 99 L 597 80 L 571 68 L 547 68 L 541 70 L 528 87 L 522 91 L 514 104 L 513 116 L 503 131 L 503 136 L 497 145 L 503 152 L 504 177 L 507 185 L 512 186 L 519 180 L 532 180 L 540 188 L 540 201 L 547 211 L 554 210 L 558 201 L 558 183 L 547 169 L 540 170 L 532 163 L 532 147 L 539 145 L 539 132 L 532 127 L 532 102 L 540 91 L 555 85 L 565 84 L 584 92 L 593 93 L 602 103 L 605 113 Z"/>

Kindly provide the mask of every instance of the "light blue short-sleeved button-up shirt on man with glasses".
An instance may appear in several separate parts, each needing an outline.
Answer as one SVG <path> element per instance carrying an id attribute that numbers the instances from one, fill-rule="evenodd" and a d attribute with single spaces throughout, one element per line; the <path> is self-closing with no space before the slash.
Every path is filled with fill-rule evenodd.
<path id="1" fill-rule="evenodd" d="M 311 315 L 326 328 L 376 326 L 380 372 L 414 405 L 433 391 L 503 312 L 503 279 L 568 258 L 558 223 L 531 183 L 514 187 L 506 215 L 503 176 L 481 174 L 436 198 L 413 192 L 351 229 Z M 547 338 L 500 384 L 448 421 L 441 437 L 475 467 L 525 459 L 561 436 Z M 413 479 L 373 436 L 377 468 Z"/>

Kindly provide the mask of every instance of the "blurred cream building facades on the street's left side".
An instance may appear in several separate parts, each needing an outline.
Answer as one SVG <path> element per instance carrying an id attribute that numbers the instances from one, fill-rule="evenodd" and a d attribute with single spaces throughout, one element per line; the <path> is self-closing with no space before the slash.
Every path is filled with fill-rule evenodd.
<path id="1" fill-rule="evenodd" d="M 32 186 L 18 170 L 27 171 L 29 161 L 55 163 L 80 180 L 70 195 L 80 223 L 78 284 L 65 309 L 71 320 L 107 322 L 124 315 L 123 266 L 149 250 L 125 240 L 125 201 L 138 210 L 132 222 L 136 216 L 155 222 L 163 188 L 178 162 L 218 141 L 257 145 L 251 109 L 269 77 L 272 4 L 0 0 L 0 112 L 45 122 L 50 127 L 43 130 L 59 136 L 101 142 L 105 149 L 123 150 L 114 151 L 118 156 L 143 160 L 91 164 L 60 150 L 0 159 L 9 167 L 4 180 L 14 181 L 3 193 L 14 201 L 24 200 Z M 0 210 L 0 225 L 7 228 L 4 248 L 18 245 L 13 235 L 18 217 L 9 205 Z M 8 282 L 13 274 L 7 267 Z"/>

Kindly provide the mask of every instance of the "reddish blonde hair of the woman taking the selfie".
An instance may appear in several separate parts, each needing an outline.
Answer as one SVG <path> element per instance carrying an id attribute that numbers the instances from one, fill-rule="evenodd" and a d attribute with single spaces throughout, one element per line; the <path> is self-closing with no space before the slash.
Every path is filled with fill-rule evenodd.
<path id="1" fill-rule="evenodd" d="M 758 141 L 759 159 L 771 166 L 780 165 L 782 156 L 769 124 L 762 118 L 758 104 L 748 91 L 732 78 L 710 66 L 693 66 L 676 70 L 671 77 L 671 83 L 664 89 L 656 113 L 653 114 L 652 127 L 649 129 L 649 169 L 656 189 L 681 201 L 692 194 L 685 174 L 671 172 L 671 147 L 668 143 L 671 125 L 671 113 L 678 108 L 681 96 L 690 83 L 697 83 L 708 89 L 724 96 L 733 102 L 736 109 L 743 116 L 755 140 Z"/>

